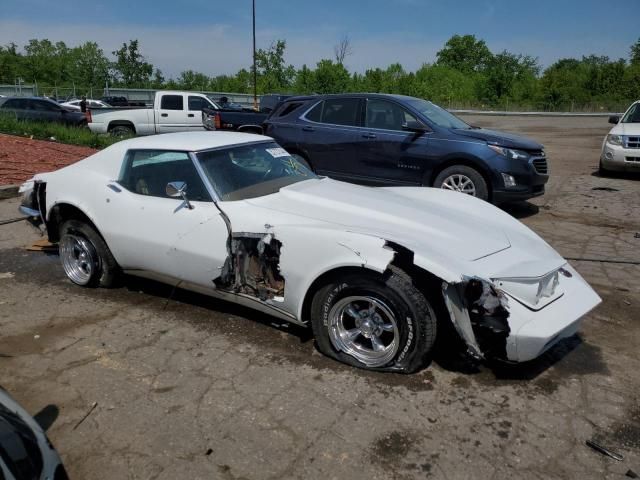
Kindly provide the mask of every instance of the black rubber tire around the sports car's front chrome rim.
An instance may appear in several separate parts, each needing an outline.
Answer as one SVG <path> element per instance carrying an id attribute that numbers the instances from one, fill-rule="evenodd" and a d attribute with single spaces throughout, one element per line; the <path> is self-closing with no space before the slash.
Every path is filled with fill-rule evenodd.
<path id="1" fill-rule="evenodd" d="M 340 299 L 353 295 L 371 296 L 387 305 L 396 317 L 399 331 L 399 347 L 394 358 L 386 365 L 369 367 L 351 355 L 336 350 L 329 337 L 329 313 Z M 422 356 L 419 339 L 423 325 L 420 313 L 402 291 L 390 288 L 382 279 L 368 276 L 347 276 L 319 290 L 311 307 L 311 322 L 318 349 L 324 354 L 348 365 L 369 370 L 410 372 L 415 367 L 416 352 Z"/>

